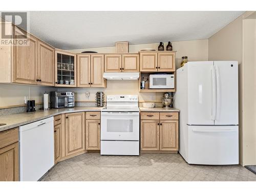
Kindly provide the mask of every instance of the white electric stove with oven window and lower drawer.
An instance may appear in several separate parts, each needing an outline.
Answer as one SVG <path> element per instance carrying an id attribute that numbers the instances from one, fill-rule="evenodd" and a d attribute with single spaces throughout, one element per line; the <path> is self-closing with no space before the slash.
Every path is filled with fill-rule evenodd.
<path id="1" fill-rule="evenodd" d="M 139 155 L 138 95 L 108 95 L 101 110 L 101 155 Z"/>

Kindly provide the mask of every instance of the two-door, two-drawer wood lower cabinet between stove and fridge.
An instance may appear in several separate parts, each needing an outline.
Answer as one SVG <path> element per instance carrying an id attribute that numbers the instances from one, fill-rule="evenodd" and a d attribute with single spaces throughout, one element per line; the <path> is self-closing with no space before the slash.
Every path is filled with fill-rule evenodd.
<path id="1" fill-rule="evenodd" d="M 141 151 L 179 150 L 178 112 L 141 112 L 140 118 Z"/>

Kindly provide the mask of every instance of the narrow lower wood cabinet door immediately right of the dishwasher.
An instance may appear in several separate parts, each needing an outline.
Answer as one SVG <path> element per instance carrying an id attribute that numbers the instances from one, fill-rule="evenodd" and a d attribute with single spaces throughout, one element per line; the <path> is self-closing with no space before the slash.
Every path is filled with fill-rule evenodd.
<path id="1" fill-rule="evenodd" d="M 61 124 L 54 126 L 54 162 L 61 158 Z"/>

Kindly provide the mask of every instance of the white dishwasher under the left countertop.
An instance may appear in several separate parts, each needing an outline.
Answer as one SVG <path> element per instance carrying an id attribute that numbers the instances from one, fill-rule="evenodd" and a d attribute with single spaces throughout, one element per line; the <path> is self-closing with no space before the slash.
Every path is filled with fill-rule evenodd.
<path id="1" fill-rule="evenodd" d="M 37 181 L 54 165 L 53 117 L 19 127 L 20 181 Z"/>

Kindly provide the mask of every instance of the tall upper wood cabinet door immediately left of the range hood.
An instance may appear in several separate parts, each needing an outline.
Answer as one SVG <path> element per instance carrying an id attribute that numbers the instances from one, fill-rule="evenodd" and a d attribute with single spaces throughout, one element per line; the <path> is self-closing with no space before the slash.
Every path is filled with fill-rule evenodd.
<path id="1" fill-rule="evenodd" d="M 104 55 L 91 55 L 91 87 L 106 87 L 106 80 L 103 78 L 104 73 Z"/>

